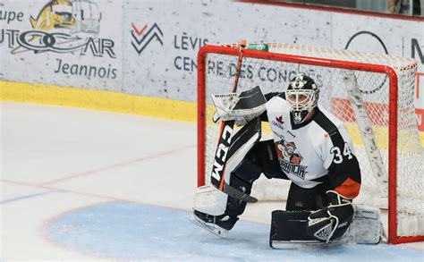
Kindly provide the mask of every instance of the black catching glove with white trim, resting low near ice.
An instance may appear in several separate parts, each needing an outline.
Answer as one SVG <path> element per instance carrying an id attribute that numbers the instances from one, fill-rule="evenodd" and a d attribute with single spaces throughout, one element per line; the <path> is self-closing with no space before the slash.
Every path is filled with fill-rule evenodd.
<path id="1" fill-rule="evenodd" d="M 329 206 L 310 214 L 307 234 L 321 242 L 340 239 L 354 217 L 352 199 L 346 199 L 333 190 L 326 191 Z"/>

